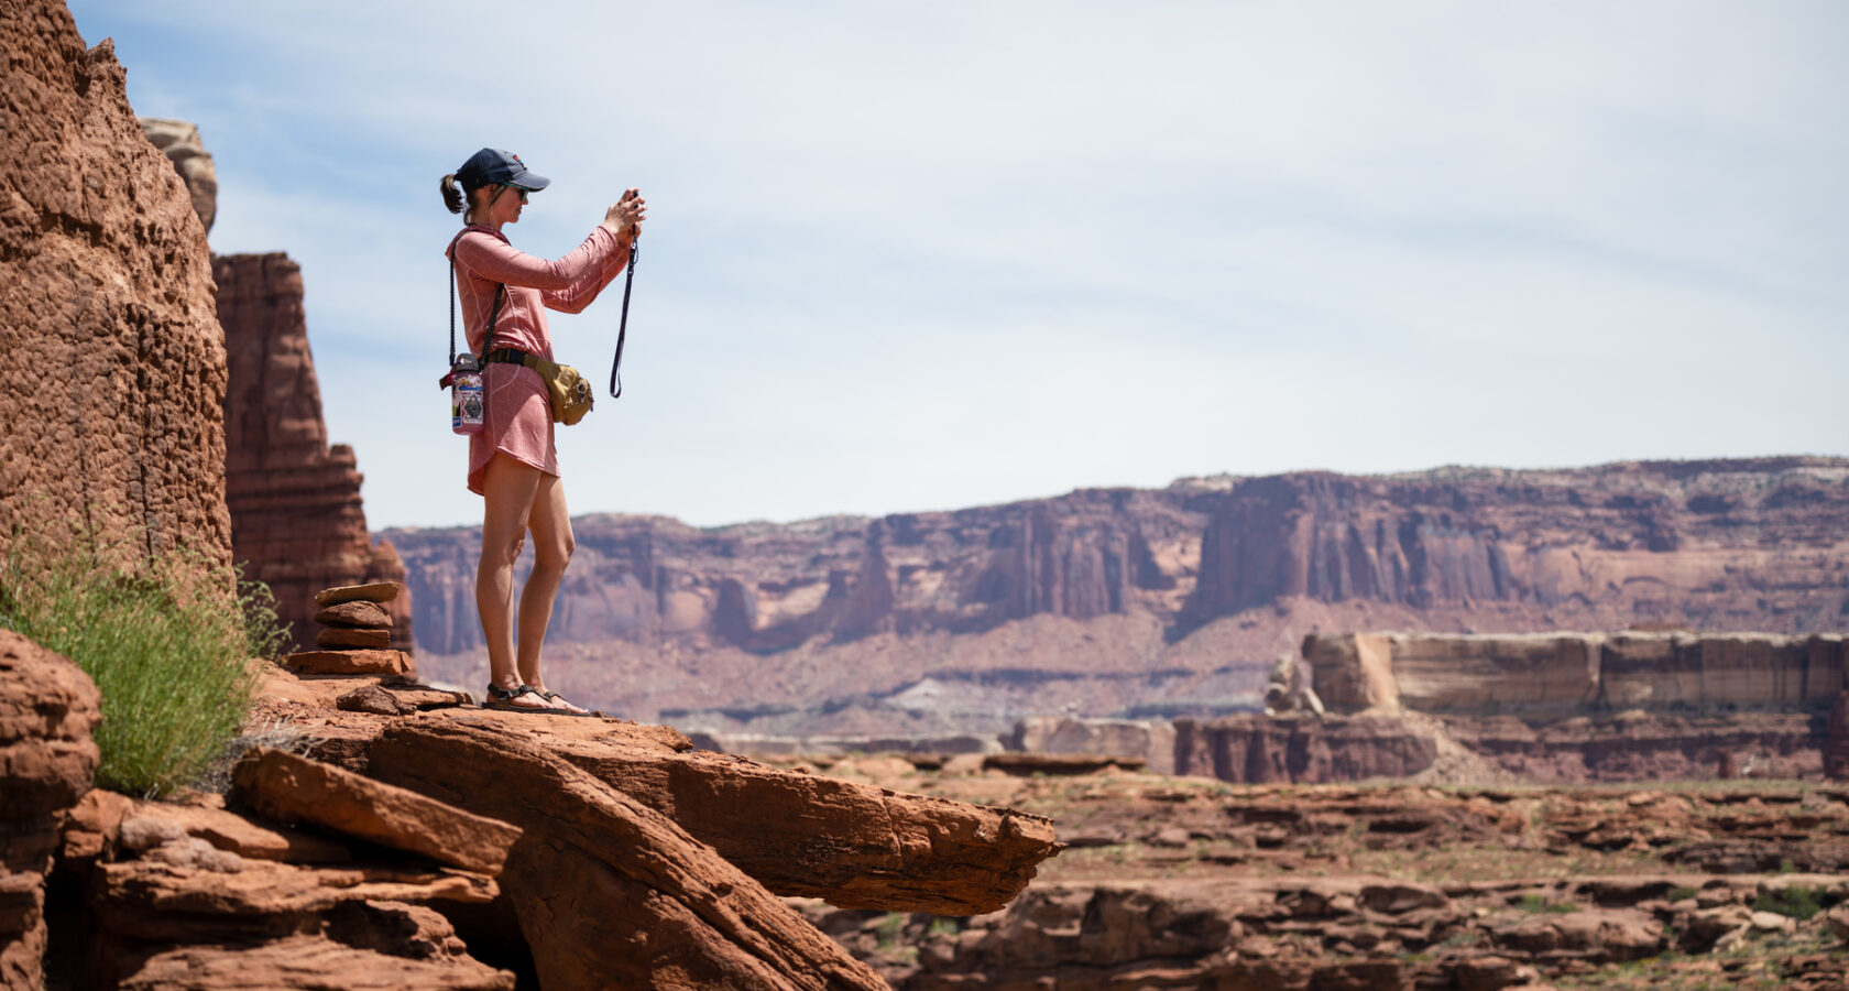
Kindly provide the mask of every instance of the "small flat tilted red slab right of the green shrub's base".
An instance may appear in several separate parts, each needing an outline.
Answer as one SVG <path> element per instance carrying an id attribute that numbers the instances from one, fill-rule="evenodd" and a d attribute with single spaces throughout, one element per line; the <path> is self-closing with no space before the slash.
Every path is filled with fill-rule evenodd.
<path id="1" fill-rule="evenodd" d="M 520 830 L 327 764 L 259 747 L 233 771 L 229 801 L 279 823 L 312 823 L 449 863 L 497 875 Z"/>

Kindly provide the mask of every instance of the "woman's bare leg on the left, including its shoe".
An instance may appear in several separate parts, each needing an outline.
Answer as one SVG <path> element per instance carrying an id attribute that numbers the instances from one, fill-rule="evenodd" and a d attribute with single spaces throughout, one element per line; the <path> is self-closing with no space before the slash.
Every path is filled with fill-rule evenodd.
<path id="1" fill-rule="evenodd" d="M 499 688 L 521 684 L 514 671 L 514 560 L 520 558 L 520 547 L 527 540 L 527 518 L 533 514 L 542 477 L 538 468 L 503 455 L 496 455 L 483 475 L 475 608 L 481 612 L 481 632 L 488 642 L 488 680 Z M 514 704 L 549 708 L 538 695 L 521 695 Z"/>

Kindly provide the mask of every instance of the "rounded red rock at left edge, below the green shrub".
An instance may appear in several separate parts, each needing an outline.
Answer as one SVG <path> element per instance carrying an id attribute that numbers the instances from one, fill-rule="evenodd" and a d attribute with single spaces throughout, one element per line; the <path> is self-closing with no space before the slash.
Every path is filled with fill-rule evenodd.
<path id="1" fill-rule="evenodd" d="M 96 773 L 100 706 L 76 664 L 0 629 L 0 987 L 44 984 L 44 878 Z"/>

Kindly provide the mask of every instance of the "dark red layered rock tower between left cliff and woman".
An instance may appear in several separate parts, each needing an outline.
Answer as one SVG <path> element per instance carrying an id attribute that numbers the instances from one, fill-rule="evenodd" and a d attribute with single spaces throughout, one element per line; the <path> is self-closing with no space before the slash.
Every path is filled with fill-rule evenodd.
<path id="1" fill-rule="evenodd" d="M 233 555 L 311 638 L 314 593 L 329 586 L 405 582 L 390 542 L 373 544 L 353 447 L 327 444 L 320 385 L 301 309 L 301 268 L 283 253 L 220 255 L 218 322 L 229 355 L 226 503 Z M 410 597 L 390 603 L 386 647 L 410 651 Z"/>

